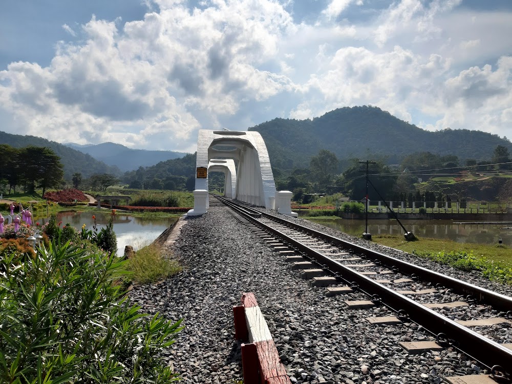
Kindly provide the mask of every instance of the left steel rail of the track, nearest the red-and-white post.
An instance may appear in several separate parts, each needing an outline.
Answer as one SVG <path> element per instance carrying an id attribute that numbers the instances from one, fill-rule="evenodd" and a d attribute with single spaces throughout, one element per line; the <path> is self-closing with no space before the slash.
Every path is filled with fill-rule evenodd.
<path id="1" fill-rule="evenodd" d="M 231 207 L 232 204 L 230 204 L 230 202 L 224 202 Z M 304 252 L 308 257 L 322 265 L 324 269 L 332 271 L 338 279 L 344 280 L 353 287 L 360 287 L 362 291 L 369 295 L 377 295 L 378 301 L 381 301 L 382 304 L 396 312 L 402 313 L 402 310 L 405 311 L 408 318 L 421 325 L 432 334 L 444 334 L 447 339 L 456 340 L 457 345 L 454 345 L 455 347 L 480 361 L 483 365 L 489 368 L 494 367 L 495 365 L 501 367 L 512 366 L 512 350 L 509 350 L 493 340 L 490 340 L 487 337 L 452 321 L 432 309 L 375 282 L 373 279 L 358 273 L 352 268 L 349 268 L 318 252 L 317 250 L 302 244 L 300 241 L 287 236 L 287 234 L 279 231 L 278 229 L 272 228 L 251 216 L 245 216 L 250 221 L 264 227 L 269 232 L 285 239 L 288 244 L 297 250 Z"/>

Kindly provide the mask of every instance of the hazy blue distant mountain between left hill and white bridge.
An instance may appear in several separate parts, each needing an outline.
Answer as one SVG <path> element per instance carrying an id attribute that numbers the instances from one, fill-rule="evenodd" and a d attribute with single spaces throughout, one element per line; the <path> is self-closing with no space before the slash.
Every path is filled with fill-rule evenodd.
<path id="1" fill-rule="evenodd" d="M 134 170 L 140 166 L 155 165 L 161 161 L 178 159 L 186 155 L 186 153 L 183 152 L 173 151 L 134 150 L 124 145 L 111 142 L 89 145 L 67 143 L 65 145 L 89 154 L 96 160 L 117 166 L 123 171 Z"/>

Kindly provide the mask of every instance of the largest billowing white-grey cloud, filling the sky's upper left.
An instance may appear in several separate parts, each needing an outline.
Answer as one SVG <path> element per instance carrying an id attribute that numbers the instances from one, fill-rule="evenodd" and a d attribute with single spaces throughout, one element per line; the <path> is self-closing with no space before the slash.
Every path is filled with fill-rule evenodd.
<path id="1" fill-rule="evenodd" d="M 274 61 L 281 33 L 292 26 L 279 4 L 157 5 L 159 12 L 122 26 L 93 16 L 82 26 L 84 42 L 61 42 L 49 67 L 11 64 L 0 72 L 3 108 L 25 122 L 25 133 L 51 127 L 46 136 L 58 141 L 116 137 L 133 145 L 139 137 L 151 145 L 158 137 L 160 149 L 179 149 L 244 98 L 262 101 L 293 88 L 285 75 L 258 69 Z M 198 110 L 202 123 L 191 113 Z"/>

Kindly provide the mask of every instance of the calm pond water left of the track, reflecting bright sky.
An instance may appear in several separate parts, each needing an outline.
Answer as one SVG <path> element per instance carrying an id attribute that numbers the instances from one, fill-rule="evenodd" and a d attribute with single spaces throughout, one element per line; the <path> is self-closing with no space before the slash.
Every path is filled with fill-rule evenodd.
<path id="1" fill-rule="evenodd" d="M 100 231 L 101 228 L 105 228 L 110 219 L 110 211 L 105 213 L 91 211 L 59 212 L 57 214 L 57 223 L 61 221 L 61 226 L 70 223 L 78 230 L 81 230 L 82 225 L 85 224 L 87 229 L 92 229 L 94 224 L 93 215 L 96 217 L 98 231 Z M 39 218 L 36 219 L 36 221 L 42 225 L 48 220 L 46 218 Z M 139 218 L 119 214 L 118 212 L 114 219 L 114 232 L 116 232 L 117 237 L 117 254 L 123 255 L 126 245 L 131 245 L 135 249 L 139 249 L 142 246 L 150 244 L 175 221 L 176 218 Z"/>

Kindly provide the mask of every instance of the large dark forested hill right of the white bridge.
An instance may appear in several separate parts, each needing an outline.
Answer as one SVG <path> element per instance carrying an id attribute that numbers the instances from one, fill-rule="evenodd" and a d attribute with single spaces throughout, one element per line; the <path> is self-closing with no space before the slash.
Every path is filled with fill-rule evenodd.
<path id="1" fill-rule="evenodd" d="M 414 152 L 456 155 L 460 160 L 488 159 L 498 145 L 512 152 L 512 143 L 481 131 L 425 131 L 373 106 L 328 112 L 313 120 L 273 119 L 249 128 L 263 136 L 272 166 L 309 165 L 311 156 L 327 149 L 338 159 L 387 156 L 390 163 Z"/>

